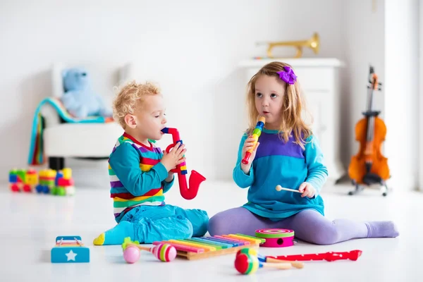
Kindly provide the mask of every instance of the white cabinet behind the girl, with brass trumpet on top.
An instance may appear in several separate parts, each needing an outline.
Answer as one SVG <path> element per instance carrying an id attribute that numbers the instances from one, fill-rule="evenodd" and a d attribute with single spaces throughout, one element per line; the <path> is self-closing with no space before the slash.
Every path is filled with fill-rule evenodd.
<path id="1" fill-rule="evenodd" d="M 251 59 L 240 63 L 245 68 L 245 85 L 252 75 L 271 61 L 283 61 L 293 66 L 298 75 L 307 109 L 313 116 L 312 129 L 319 138 L 324 153 L 329 180 L 336 181 L 345 174 L 341 163 L 341 99 L 338 59 Z"/>

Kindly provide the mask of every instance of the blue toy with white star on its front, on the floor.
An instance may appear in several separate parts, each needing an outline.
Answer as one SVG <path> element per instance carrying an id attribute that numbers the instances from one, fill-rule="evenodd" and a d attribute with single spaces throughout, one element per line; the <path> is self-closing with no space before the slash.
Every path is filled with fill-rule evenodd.
<path id="1" fill-rule="evenodd" d="M 90 249 L 84 246 L 80 236 L 57 236 L 51 249 L 51 262 L 90 262 Z"/>

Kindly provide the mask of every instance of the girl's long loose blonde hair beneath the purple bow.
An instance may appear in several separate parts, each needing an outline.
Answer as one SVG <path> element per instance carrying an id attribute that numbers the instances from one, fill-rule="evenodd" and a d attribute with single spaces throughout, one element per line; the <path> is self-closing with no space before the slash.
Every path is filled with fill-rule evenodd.
<path id="1" fill-rule="evenodd" d="M 284 71 L 284 66 L 292 68 L 288 63 L 281 63 L 277 61 L 268 63 L 263 66 L 255 75 L 253 75 L 250 79 L 250 82 L 248 82 L 247 109 L 249 127 L 247 129 L 247 134 L 252 134 L 252 130 L 254 130 L 259 117 L 259 113 L 257 112 L 255 106 L 255 82 L 261 75 L 274 76 L 280 79 L 278 71 Z M 295 81 L 293 85 L 286 83 L 286 90 L 285 94 L 283 95 L 281 111 L 282 123 L 281 128 L 279 128 L 279 133 L 285 142 L 288 142 L 288 138 L 290 137 L 291 133 L 293 133 L 295 143 L 300 145 L 302 149 L 305 148 L 305 140 L 312 136 L 311 128 L 305 123 L 305 121 L 303 121 L 301 117 L 303 110 L 306 110 L 305 101 L 302 97 L 298 80 Z"/>

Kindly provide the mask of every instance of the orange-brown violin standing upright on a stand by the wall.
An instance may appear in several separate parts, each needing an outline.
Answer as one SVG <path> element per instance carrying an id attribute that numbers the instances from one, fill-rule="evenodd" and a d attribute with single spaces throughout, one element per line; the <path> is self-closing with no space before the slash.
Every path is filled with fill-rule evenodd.
<path id="1" fill-rule="evenodd" d="M 360 142 L 360 149 L 355 156 L 351 158 L 348 167 L 348 175 L 356 185 L 354 192 L 362 190 L 362 185 L 372 185 L 379 183 L 384 185 L 386 190 L 383 193 L 386 196 L 385 181 L 391 177 L 388 167 L 388 159 L 381 153 L 381 145 L 386 137 L 386 125 L 379 117 L 381 111 L 373 109 L 373 93 L 375 90 L 381 90 L 381 83 L 378 81 L 378 75 L 374 73 L 374 68 L 370 66 L 369 85 L 367 85 L 367 111 L 364 111 L 363 118 L 355 125 L 355 140 Z"/>

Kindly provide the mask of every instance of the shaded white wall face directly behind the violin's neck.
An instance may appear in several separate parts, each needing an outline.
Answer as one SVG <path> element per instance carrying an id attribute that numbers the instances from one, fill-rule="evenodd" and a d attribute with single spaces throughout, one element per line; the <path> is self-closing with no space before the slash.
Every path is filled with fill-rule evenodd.
<path id="1" fill-rule="evenodd" d="M 384 1 L 377 1 L 376 11 L 372 1 L 355 0 L 343 2 L 343 60 L 341 70 L 343 99 L 343 163 L 348 169 L 350 159 L 358 153 L 360 144 L 355 140 L 355 125 L 360 121 L 367 107 L 367 85 L 369 64 L 374 66 L 381 82 L 385 82 L 385 36 Z M 374 108 L 384 109 L 384 91 L 374 93 Z"/>

